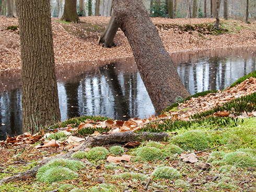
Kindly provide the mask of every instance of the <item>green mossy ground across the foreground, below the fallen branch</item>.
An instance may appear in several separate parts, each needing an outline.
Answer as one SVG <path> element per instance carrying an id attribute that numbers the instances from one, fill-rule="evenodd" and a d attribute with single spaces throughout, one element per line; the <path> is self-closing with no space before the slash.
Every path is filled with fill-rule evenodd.
<path id="1" fill-rule="evenodd" d="M 69 121 L 79 124 L 78 119 Z M 109 163 L 105 157 L 108 151 L 105 151 L 103 158 L 96 158 L 97 161 L 90 161 L 77 170 L 78 177 L 55 183 L 40 182 L 37 177 L 28 178 L 27 181 L 0 186 L 0 192 L 55 189 L 60 192 L 126 191 L 124 189 L 136 192 L 145 191 L 143 188 L 149 178 L 151 181 L 147 191 L 256 191 L 256 118 L 246 118 L 232 126 L 227 126 L 223 119 L 218 121 L 216 118 L 214 121 L 214 125 L 205 118 L 200 120 L 201 123 L 194 121 L 189 126 L 180 123 L 172 128 L 178 135 L 171 135 L 168 141 L 150 141 L 136 148 L 126 149 L 124 154 L 132 156 L 130 162 Z M 69 123 L 64 122 L 63 125 Z M 192 137 L 194 133 L 195 137 Z M 194 164 L 185 163 L 179 158 L 179 153 L 182 152 L 188 154 L 213 147 L 217 148 L 196 154 L 199 161 Z M 148 151 L 151 153 L 146 153 Z M 36 150 L 33 146 L 2 148 L 0 178 L 31 169 L 44 155 L 60 152 L 63 151 L 55 148 Z M 202 163 L 209 163 L 210 167 L 202 169 Z M 157 170 L 159 167 L 172 169 L 168 170 L 169 174 L 166 172 L 162 175 L 161 170 Z M 177 174 L 173 176 L 174 172 Z M 104 178 L 107 184 L 97 182 L 98 177 Z"/>

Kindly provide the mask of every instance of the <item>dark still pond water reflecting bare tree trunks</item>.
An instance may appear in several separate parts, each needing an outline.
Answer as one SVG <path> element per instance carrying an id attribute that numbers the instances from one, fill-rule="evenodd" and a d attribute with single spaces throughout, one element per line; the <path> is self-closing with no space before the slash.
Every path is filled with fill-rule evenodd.
<path id="1" fill-rule="evenodd" d="M 254 48 L 171 53 L 190 94 L 231 85 L 255 70 Z M 114 62 L 114 63 L 112 63 Z M 126 120 L 155 113 L 133 58 L 56 68 L 62 120 L 102 115 Z M 20 74 L 0 76 L 0 140 L 21 134 Z"/>

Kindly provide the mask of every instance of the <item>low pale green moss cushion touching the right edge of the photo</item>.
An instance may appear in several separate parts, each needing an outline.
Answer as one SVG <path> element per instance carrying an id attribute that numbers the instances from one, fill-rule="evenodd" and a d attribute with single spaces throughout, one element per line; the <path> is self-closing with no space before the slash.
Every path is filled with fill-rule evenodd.
<path id="1" fill-rule="evenodd" d="M 224 155 L 223 161 L 226 164 L 237 167 L 255 167 L 256 157 L 253 154 L 242 151 L 235 151 Z"/>

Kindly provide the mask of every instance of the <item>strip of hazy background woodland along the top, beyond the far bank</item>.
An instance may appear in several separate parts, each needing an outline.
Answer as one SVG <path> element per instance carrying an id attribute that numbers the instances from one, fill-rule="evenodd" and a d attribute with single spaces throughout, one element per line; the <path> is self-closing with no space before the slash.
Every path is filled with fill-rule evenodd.
<path id="1" fill-rule="evenodd" d="M 172 4 L 174 7 L 173 16 L 171 17 L 201 18 L 213 16 L 211 6 L 212 1 L 214 0 L 144 0 L 143 2 L 152 17 L 170 17 L 170 15 L 168 15 L 169 2 L 169 4 Z M 242 19 L 246 17 L 247 1 L 245 0 L 221 1 L 219 10 L 220 17 L 224 17 L 224 2 L 227 2 L 228 18 Z M 111 0 L 77 0 L 77 12 L 79 16 L 111 16 L 111 3 Z M 52 17 L 61 17 L 63 10 L 64 0 L 51 0 Z M 0 0 L 0 15 L 16 17 L 15 1 Z M 255 19 L 255 17 L 256 2 L 254 0 L 249 0 L 249 19 Z"/>

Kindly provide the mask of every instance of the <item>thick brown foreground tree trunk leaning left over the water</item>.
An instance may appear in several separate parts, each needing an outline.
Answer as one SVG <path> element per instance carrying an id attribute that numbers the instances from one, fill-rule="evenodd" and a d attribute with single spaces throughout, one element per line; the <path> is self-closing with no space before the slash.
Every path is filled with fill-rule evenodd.
<path id="1" fill-rule="evenodd" d="M 114 16 L 127 37 L 149 97 L 159 114 L 177 97 L 187 98 L 170 55 L 141 0 L 113 0 Z"/>

